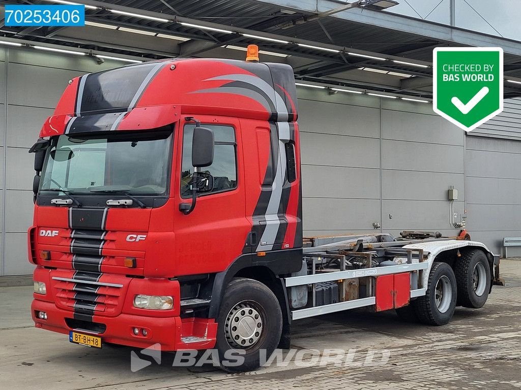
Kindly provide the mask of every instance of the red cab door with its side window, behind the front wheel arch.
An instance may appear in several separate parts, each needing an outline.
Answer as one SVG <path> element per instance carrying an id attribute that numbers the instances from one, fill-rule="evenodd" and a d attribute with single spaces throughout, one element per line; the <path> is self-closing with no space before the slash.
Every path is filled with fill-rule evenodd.
<path id="1" fill-rule="evenodd" d="M 175 262 L 177 275 L 225 270 L 241 255 L 251 229 L 245 217 L 244 167 L 240 123 L 229 117 L 195 115 L 201 126 L 212 129 L 214 161 L 201 168 L 213 176 L 213 189 L 197 196 L 195 209 L 184 215 L 179 204 L 192 202 L 190 180 L 194 122 L 181 121 L 177 164 L 172 193 L 175 194 Z"/>

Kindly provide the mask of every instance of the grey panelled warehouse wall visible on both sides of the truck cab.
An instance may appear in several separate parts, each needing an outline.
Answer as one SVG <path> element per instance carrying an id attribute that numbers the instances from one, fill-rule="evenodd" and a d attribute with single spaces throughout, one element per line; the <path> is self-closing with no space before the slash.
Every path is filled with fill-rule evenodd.
<path id="1" fill-rule="evenodd" d="M 26 231 L 33 156 L 27 151 L 43 121 L 71 77 L 120 65 L 0 47 L 0 276 L 32 271 Z M 460 215 L 467 198 L 473 238 L 499 253 L 502 237 L 521 234 L 521 142 L 489 137 L 501 127 L 465 137 L 428 104 L 305 87 L 298 94 L 305 235 L 404 229 L 452 235 L 450 185 L 459 191 Z M 510 103 L 521 107 L 521 100 Z M 504 113 L 511 119 L 498 118 L 496 125 L 509 122 L 516 131 L 521 110 L 512 107 Z"/>

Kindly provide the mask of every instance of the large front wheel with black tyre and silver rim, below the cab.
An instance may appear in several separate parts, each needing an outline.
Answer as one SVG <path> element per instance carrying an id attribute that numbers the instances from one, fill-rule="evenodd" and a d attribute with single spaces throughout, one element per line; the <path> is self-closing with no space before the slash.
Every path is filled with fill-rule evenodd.
<path id="1" fill-rule="evenodd" d="M 233 279 L 226 288 L 218 318 L 216 348 L 221 368 L 228 372 L 259 368 L 260 350 L 265 350 L 268 358 L 281 334 L 282 311 L 275 294 L 256 280 Z M 229 367 L 222 361 L 230 349 L 245 350 L 245 354 L 240 355 L 244 358 L 241 366 Z"/>

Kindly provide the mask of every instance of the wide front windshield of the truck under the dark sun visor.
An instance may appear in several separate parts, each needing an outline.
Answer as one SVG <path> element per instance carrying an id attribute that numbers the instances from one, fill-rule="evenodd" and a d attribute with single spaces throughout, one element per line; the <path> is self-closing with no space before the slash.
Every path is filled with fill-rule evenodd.
<path id="1" fill-rule="evenodd" d="M 40 190 L 166 194 L 172 132 L 118 133 L 53 139 Z"/>

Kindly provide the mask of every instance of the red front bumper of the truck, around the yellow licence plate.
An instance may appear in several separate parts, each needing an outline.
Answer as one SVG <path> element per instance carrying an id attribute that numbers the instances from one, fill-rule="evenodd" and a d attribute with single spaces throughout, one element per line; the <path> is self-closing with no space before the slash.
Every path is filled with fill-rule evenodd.
<path id="1" fill-rule="evenodd" d="M 45 311 L 47 319 L 38 318 L 36 316 L 37 311 Z M 213 348 L 217 333 L 217 323 L 214 320 L 148 317 L 125 313 L 116 317 L 93 316 L 93 323 L 100 323 L 106 327 L 103 332 L 94 333 L 89 330 L 70 327 L 66 319 L 73 320 L 72 311 L 60 309 L 53 302 L 37 299 L 32 302 L 31 314 L 36 328 L 63 334 L 69 334 L 69 331 L 76 329 L 81 333 L 100 336 L 102 342 L 105 343 L 137 348 L 147 348 L 159 343 L 163 351 Z M 146 336 L 143 336 L 141 331 L 139 335 L 134 335 L 133 328 L 146 329 Z"/>

